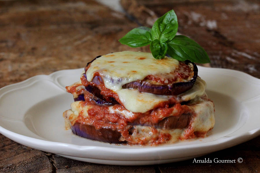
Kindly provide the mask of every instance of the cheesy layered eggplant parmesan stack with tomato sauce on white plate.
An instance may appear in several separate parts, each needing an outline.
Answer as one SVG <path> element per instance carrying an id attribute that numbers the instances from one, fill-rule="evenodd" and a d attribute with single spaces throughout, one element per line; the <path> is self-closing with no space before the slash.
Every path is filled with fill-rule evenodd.
<path id="1" fill-rule="evenodd" d="M 78 136 L 157 145 L 205 137 L 214 126 L 214 104 L 190 61 L 114 52 L 89 62 L 80 79 L 66 87 L 74 102 L 63 113 Z"/>

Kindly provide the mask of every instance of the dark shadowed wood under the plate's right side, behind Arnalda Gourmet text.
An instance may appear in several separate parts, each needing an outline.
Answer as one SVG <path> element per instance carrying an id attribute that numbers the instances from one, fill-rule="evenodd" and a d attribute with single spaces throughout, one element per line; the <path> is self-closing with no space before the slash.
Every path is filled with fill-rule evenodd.
<path id="1" fill-rule="evenodd" d="M 193 163 L 194 159 L 181 161 L 178 163 L 168 163 L 159 165 L 159 170 L 164 173 L 193 173 L 193 172 L 211 172 L 211 173 L 229 173 L 229 172 L 259 172 L 260 171 L 260 137 L 252 139 L 243 144 L 217 151 L 196 159 L 210 159 L 213 163 Z M 219 160 L 237 160 L 243 159 L 242 163 L 214 163 L 214 159 Z"/>

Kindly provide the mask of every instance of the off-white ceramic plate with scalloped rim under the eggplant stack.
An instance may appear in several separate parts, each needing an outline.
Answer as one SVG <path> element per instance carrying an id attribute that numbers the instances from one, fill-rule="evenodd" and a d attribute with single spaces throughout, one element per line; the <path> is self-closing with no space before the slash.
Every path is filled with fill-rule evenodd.
<path id="1" fill-rule="evenodd" d="M 0 133 L 23 145 L 93 163 L 147 165 L 181 161 L 228 148 L 260 134 L 260 80 L 229 69 L 198 67 L 214 101 L 209 136 L 156 147 L 112 145 L 64 130 L 62 112 L 73 96 L 65 86 L 83 69 L 39 75 L 0 89 Z"/>

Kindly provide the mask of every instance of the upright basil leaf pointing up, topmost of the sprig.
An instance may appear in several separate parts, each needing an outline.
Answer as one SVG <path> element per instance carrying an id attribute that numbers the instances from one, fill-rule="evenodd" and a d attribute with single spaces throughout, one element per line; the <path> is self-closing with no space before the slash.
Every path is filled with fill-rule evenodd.
<path id="1" fill-rule="evenodd" d="M 178 31 L 177 16 L 170 10 L 158 18 L 152 27 L 153 40 L 158 39 L 161 43 L 171 41 Z"/>

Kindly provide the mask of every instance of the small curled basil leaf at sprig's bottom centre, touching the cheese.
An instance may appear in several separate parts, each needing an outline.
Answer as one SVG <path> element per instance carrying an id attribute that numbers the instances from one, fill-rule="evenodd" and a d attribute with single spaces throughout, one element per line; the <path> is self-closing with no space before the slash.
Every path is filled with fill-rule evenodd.
<path id="1" fill-rule="evenodd" d="M 160 43 L 158 39 L 154 40 L 150 44 L 150 50 L 155 59 L 164 59 L 167 49 L 168 49 L 167 44 Z"/>

